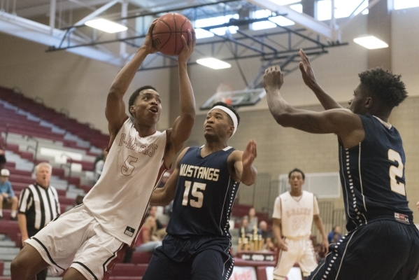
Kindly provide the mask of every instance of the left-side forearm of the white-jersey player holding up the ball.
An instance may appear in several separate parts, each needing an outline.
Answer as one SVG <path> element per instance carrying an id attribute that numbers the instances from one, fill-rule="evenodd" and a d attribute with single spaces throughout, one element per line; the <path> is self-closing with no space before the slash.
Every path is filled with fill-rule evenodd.
<path id="1" fill-rule="evenodd" d="M 109 90 L 110 94 L 116 94 L 118 97 L 122 99 L 125 92 L 127 92 L 129 85 L 132 83 L 132 80 L 134 79 L 134 76 L 138 69 L 140 68 L 141 64 L 143 63 L 145 57 L 149 52 L 146 48 L 139 48 L 137 50 L 134 57 L 129 61 L 118 73 L 118 76 L 116 76 L 115 80 L 113 80 L 113 83 L 111 85 L 111 90 Z"/>

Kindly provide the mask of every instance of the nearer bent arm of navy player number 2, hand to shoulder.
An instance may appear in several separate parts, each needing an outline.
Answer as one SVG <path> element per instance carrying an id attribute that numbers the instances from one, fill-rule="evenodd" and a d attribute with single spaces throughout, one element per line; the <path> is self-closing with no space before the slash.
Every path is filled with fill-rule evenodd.
<path id="1" fill-rule="evenodd" d="M 280 94 L 283 73 L 279 66 L 269 67 L 264 74 L 269 111 L 279 125 L 294 127 L 310 133 L 336 134 L 345 148 L 357 145 L 364 139 L 364 129 L 359 116 L 348 109 L 331 109 L 321 113 L 295 109 Z"/>

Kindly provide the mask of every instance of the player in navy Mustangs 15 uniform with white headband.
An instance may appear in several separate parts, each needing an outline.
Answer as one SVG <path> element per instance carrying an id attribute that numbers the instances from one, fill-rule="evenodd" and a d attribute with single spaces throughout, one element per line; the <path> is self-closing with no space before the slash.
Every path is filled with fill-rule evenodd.
<path id="1" fill-rule="evenodd" d="M 244 152 L 227 145 L 238 125 L 232 106 L 214 104 L 204 122 L 206 144 L 185 148 L 164 187 L 153 192 L 151 204 L 169 204 L 174 197 L 173 213 L 143 280 L 231 276 L 229 218 L 234 198 L 240 183 L 252 185 L 257 175 L 255 141 L 249 141 Z"/>

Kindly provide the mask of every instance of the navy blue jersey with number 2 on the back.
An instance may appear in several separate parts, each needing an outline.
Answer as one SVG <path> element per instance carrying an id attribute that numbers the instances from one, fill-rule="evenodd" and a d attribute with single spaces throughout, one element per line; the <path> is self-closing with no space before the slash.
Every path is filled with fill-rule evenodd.
<path id="1" fill-rule="evenodd" d="M 365 138 L 353 148 L 339 145 L 339 165 L 346 228 L 353 230 L 384 212 L 411 223 L 406 200 L 402 138 L 374 116 L 361 116 Z M 394 214 L 393 214 L 394 212 Z M 410 220 L 410 221 L 409 221 Z"/>

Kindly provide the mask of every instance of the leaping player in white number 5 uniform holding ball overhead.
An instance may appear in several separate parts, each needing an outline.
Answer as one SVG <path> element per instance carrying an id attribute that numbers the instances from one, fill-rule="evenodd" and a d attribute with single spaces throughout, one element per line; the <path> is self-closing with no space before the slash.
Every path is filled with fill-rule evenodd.
<path id="1" fill-rule="evenodd" d="M 196 38 L 188 31 L 188 42 L 178 55 L 180 116 L 173 127 L 158 132 L 162 110 L 154 87 L 136 90 L 129 99 L 130 119 L 123 97 L 145 57 L 157 50 L 152 45 L 152 22 L 141 48 L 118 73 L 106 102 L 110 134 L 108 158 L 99 181 L 75 207 L 27 239 L 11 264 L 13 280 L 34 279 L 49 267 L 53 275 L 69 270 L 64 280 L 108 279 L 116 260 L 138 235 L 153 186 L 171 166 L 175 155 L 190 136 L 195 117 L 187 60 Z"/>

